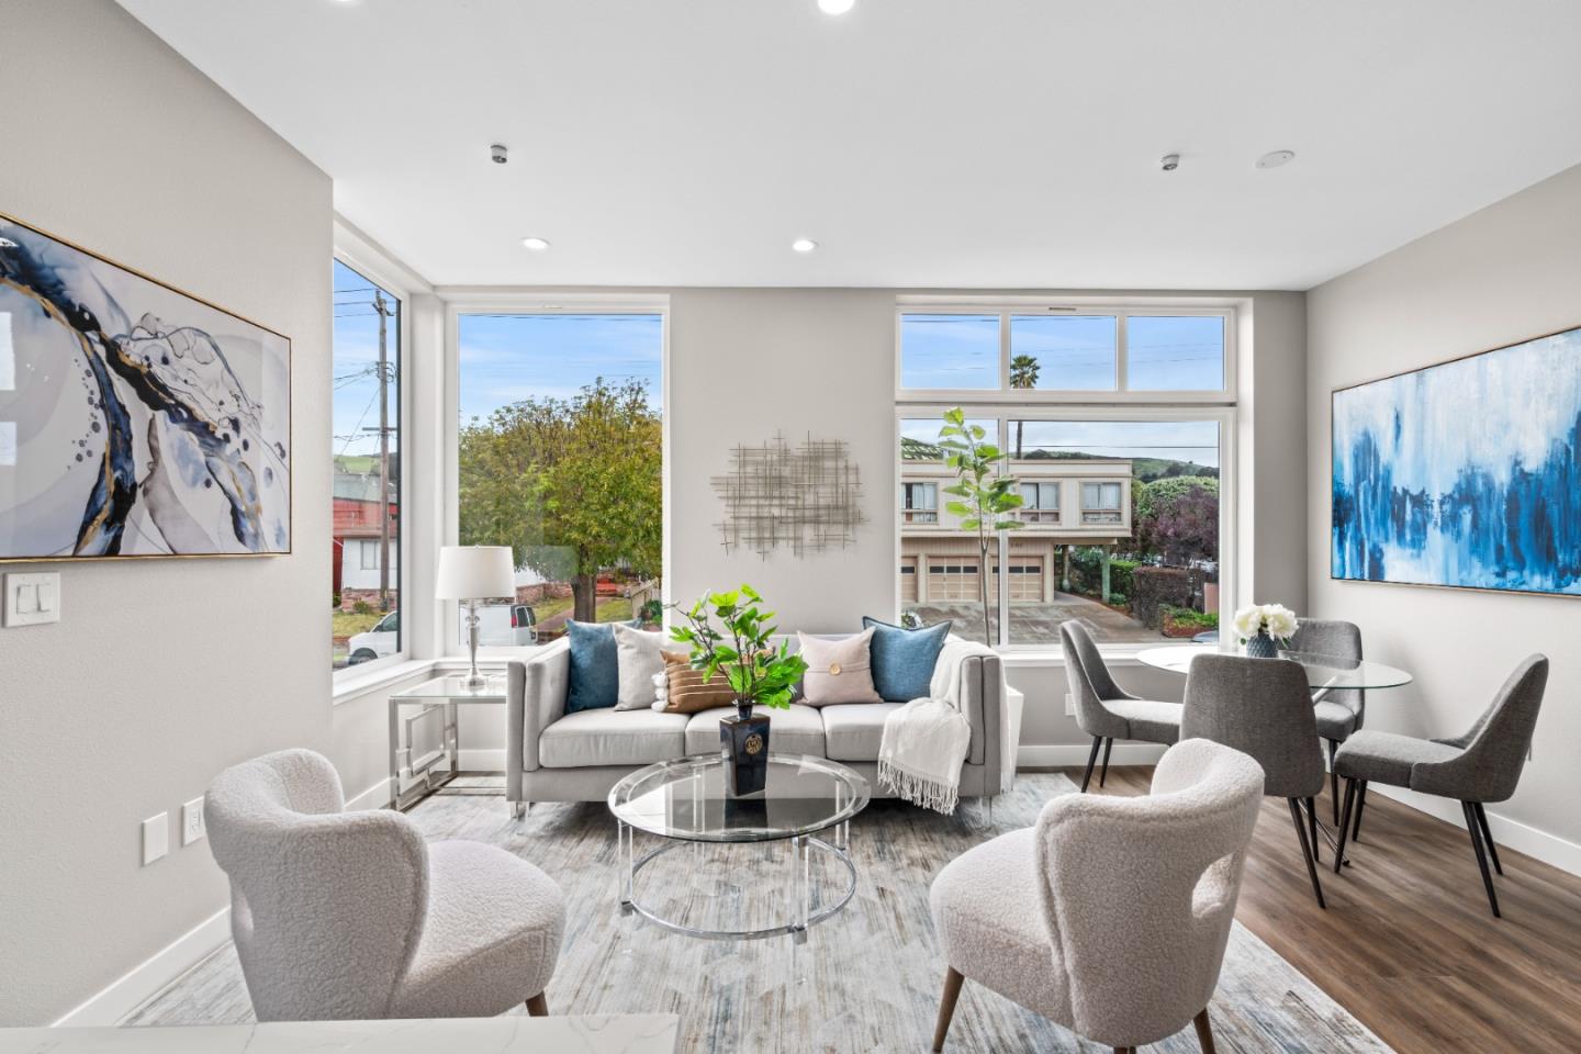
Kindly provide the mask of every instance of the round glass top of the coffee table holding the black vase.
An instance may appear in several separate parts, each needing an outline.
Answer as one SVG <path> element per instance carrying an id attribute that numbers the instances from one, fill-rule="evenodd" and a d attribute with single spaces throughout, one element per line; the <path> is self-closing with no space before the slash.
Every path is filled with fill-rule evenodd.
<path id="1" fill-rule="evenodd" d="M 764 790 L 740 798 L 719 754 L 694 754 L 631 773 L 609 811 L 639 831 L 696 842 L 765 842 L 843 823 L 868 804 L 868 781 L 838 762 L 768 754 Z"/>

